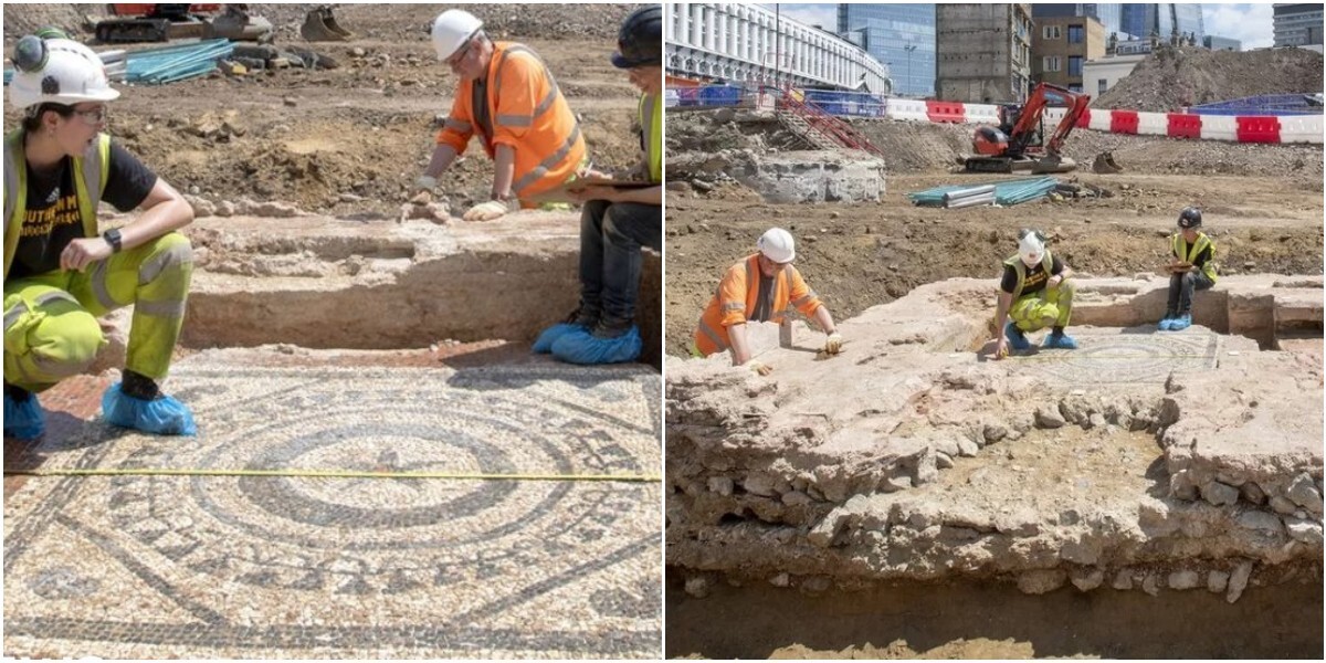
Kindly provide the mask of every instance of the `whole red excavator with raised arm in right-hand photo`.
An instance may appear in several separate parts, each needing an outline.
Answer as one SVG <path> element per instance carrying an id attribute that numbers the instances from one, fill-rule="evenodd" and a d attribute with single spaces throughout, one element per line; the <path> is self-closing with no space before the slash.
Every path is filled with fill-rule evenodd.
<path id="1" fill-rule="evenodd" d="M 1073 159 L 1062 156 L 1063 141 L 1077 126 L 1091 103 L 1090 94 L 1081 94 L 1058 85 L 1038 84 L 1025 105 L 1000 106 L 1000 126 L 979 126 L 972 137 L 976 156 L 967 159 L 968 172 L 1067 172 L 1077 168 Z M 1045 109 L 1067 109 L 1046 142 Z"/>

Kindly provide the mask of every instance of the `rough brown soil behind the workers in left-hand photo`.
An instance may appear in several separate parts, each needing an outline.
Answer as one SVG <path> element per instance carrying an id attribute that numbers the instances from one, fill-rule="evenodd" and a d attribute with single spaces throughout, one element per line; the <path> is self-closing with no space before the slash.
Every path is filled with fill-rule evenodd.
<path id="1" fill-rule="evenodd" d="M 338 44 L 298 37 L 312 4 L 249 7 L 272 21 L 278 48 L 312 48 L 339 66 L 121 86 L 109 133 L 176 188 L 212 203 L 286 202 L 310 212 L 394 217 L 427 166 L 436 117 L 446 117 L 456 85 L 428 42 L 439 7 L 339 5 L 337 21 L 358 37 Z M 471 7 L 495 38 L 518 40 L 544 57 L 603 168 L 638 158 L 638 93 L 607 58 L 633 7 Z M 105 5 L 5 5 L 5 53 L 41 25 L 90 40 L 82 17 L 105 13 Z M 16 121 L 7 114 L 5 129 Z M 439 192 L 463 208 L 485 199 L 491 180 L 492 163 L 471 146 Z"/>

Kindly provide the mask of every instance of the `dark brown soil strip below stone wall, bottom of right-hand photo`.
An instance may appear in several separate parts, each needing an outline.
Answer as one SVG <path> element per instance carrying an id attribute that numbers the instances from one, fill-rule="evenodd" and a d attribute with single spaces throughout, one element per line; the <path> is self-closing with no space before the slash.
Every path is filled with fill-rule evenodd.
<path id="1" fill-rule="evenodd" d="M 1029 597 L 991 585 L 916 582 L 825 594 L 765 583 L 720 583 L 696 599 L 680 585 L 668 582 L 664 647 L 670 658 L 1321 655 L 1319 583 L 1252 591 L 1235 605 L 1204 591 L 1148 597 L 1140 591 L 1079 594 L 1069 589 Z M 1297 607 L 1286 613 L 1286 606 Z M 1201 625 L 1195 626 L 1195 619 Z"/>

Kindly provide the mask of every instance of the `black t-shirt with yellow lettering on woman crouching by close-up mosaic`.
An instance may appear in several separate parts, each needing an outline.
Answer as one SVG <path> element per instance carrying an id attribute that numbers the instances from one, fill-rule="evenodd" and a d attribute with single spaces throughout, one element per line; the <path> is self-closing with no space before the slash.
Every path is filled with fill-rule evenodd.
<path id="1" fill-rule="evenodd" d="M 84 236 L 78 213 L 78 190 L 74 188 L 73 159 L 65 158 L 54 168 L 38 172 L 28 166 L 28 202 L 23 231 L 7 278 L 44 274 L 60 269 L 60 253 L 70 241 Z M 133 154 L 115 142 L 110 143 L 110 168 L 101 199 L 127 212 L 138 207 L 156 186 L 156 174 L 147 170 Z"/>

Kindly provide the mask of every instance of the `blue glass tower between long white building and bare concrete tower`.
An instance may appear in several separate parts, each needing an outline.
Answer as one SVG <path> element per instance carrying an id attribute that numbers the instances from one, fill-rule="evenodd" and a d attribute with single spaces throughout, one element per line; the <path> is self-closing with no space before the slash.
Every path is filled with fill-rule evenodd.
<path id="1" fill-rule="evenodd" d="M 839 4 L 838 34 L 888 64 L 895 94 L 935 94 L 934 4 Z"/>

